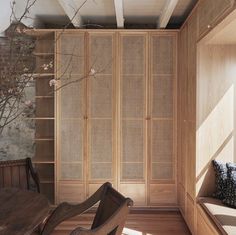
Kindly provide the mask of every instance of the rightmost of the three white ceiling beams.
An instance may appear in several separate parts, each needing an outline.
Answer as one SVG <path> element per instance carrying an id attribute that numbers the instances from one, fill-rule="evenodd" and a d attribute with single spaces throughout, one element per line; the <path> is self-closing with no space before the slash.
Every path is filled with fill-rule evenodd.
<path id="1" fill-rule="evenodd" d="M 157 22 L 157 28 L 165 28 L 179 0 L 168 0 Z"/>

